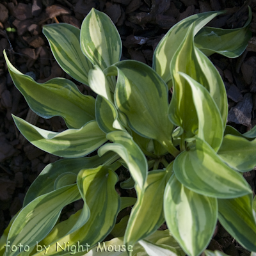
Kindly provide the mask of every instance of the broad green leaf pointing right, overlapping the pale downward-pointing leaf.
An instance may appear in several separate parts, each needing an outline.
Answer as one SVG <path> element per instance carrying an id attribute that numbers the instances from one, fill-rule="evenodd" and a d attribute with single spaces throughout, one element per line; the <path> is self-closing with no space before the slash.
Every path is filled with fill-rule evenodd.
<path id="1" fill-rule="evenodd" d="M 174 160 L 173 171 L 179 182 L 201 195 L 235 198 L 252 193 L 243 176 L 223 163 L 200 138 L 196 138 L 196 148 Z"/>

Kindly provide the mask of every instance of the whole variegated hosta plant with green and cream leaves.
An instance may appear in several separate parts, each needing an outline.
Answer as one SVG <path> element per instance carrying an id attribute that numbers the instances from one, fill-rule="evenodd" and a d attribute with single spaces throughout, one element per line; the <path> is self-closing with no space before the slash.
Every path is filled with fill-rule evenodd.
<path id="1" fill-rule="evenodd" d="M 4 52 L 29 107 L 44 118 L 61 116 L 68 129 L 45 131 L 13 115 L 28 141 L 63 159 L 47 165 L 29 188 L 1 238 L 2 255 L 197 256 L 217 220 L 256 252 L 253 195 L 243 178 L 256 164 L 256 128 L 241 134 L 226 125 L 225 86 L 208 58 L 244 51 L 252 13 L 243 28 L 205 27 L 221 13 L 199 13 L 173 26 L 157 45 L 152 68 L 120 61 L 118 31 L 97 10 L 81 30 L 44 26 L 60 67 L 96 99 L 64 78 L 36 83 Z M 121 187 L 134 187 L 136 198 L 116 193 L 118 168 L 131 173 Z M 60 222 L 63 207 L 81 198 L 83 209 Z M 131 214 L 116 223 L 131 205 Z M 168 230 L 157 230 L 164 221 Z"/>

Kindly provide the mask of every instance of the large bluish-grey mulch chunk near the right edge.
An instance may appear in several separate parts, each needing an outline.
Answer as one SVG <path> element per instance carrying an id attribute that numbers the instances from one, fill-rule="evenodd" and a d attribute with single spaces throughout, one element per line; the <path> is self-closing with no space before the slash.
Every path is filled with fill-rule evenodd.
<path id="1" fill-rule="evenodd" d="M 244 95 L 243 101 L 238 102 L 237 105 L 231 108 L 228 112 L 228 122 L 243 124 L 247 127 L 250 127 L 252 119 L 252 108 L 252 94 L 246 93 Z"/>

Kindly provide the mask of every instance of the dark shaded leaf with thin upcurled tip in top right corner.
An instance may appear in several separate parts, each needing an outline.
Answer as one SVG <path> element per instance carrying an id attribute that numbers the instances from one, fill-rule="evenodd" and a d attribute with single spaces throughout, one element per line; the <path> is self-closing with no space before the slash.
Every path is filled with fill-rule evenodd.
<path id="1" fill-rule="evenodd" d="M 249 7 L 249 15 L 243 28 L 221 29 L 221 28 L 202 28 L 195 36 L 195 45 L 207 56 L 219 53 L 228 58 L 240 56 L 248 41 L 252 37 L 250 22 L 252 21 L 252 10 Z"/>

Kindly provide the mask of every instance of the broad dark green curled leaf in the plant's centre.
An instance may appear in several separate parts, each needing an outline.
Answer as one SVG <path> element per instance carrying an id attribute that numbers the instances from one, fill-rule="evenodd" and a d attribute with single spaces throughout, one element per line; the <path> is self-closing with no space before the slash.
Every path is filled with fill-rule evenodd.
<path id="1" fill-rule="evenodd" d="M 132 130 L 143 137 L 159 141 L 173 156 L 173 124 L 168 120 L 168 88 L 148 65 L 139 61 L 120 61 L 104 70 L 117 75 L 115 104 L 127 117 Z"/>

